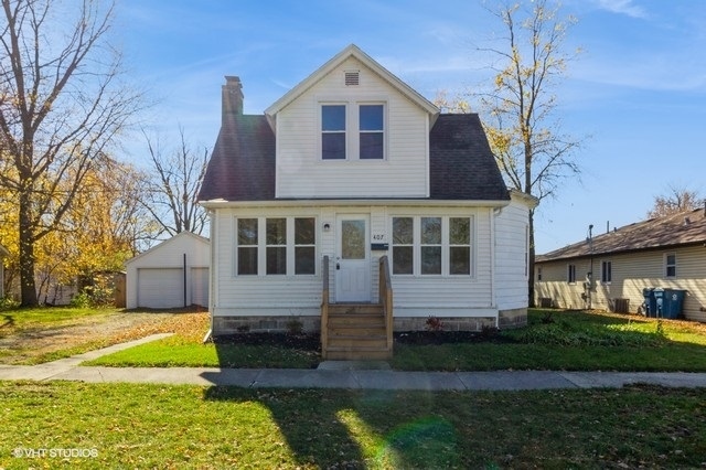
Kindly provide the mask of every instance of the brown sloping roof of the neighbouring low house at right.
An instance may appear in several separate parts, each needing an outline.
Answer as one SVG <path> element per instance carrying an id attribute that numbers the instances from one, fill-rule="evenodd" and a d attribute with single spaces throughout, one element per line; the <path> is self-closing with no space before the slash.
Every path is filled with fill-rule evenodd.
<path id="1" fill-rule="evenodd" d="M 706 243 L 706 211 L 696 209 L 616 228 L 607 234 L 595 236 L 590 243 L 587 239 L 539 255 L 535 263 L 704 243 Z"/>

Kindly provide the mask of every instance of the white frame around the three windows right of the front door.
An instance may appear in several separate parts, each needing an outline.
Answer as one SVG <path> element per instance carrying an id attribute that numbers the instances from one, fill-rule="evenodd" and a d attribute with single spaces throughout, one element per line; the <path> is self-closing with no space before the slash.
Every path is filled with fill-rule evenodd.
<path id="1" fill-rule="evenodd" d="M 393 220 L 398 217 L 406 217 L 413 220 L 413 269 L 411 274 L 394 274 L 394 277 L 424 277 L 424 278 L 475 278 L 475 264 L 477 264 L 477 233 L 475 233 L 475 216 L 473 214 L 452 214 L 452 215 L 438 215 L 438 214 L 391 214 L 388 220 L 388 233 L 391 234 L 391 256 L 394 256 L 394 236 L 393 236 Z M 441 274 L 421 274 L 421 247 L 434 246 L 421 244 L 421 220 L 422 218 L 441 218 Z M 470 243 L 469 243 L 469 274 L 450 274 L 450 234 L 449 234 L 449 220 L 450 218 L 469 218 L 470 222 Z M 400 246 L 409 246 L 403 244 Z M 461 246 L 461 245 L 453 245 Z M 466 246 L 466 245 L 463 245 Z M 392 259 L 394 263 L 394 258 Z"/>

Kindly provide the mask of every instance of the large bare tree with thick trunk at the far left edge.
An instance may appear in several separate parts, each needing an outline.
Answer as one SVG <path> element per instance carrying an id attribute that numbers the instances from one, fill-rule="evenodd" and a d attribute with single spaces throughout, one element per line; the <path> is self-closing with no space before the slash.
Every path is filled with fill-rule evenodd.
<path id="1" fill-rule="evenodd" d="M 17 194 L 22 305 L 34 306 L 34 244 L 72 205 L 93 161 L 140 105 L 120 83 L 100 0 L 1 0 L 0 148 Z"/>

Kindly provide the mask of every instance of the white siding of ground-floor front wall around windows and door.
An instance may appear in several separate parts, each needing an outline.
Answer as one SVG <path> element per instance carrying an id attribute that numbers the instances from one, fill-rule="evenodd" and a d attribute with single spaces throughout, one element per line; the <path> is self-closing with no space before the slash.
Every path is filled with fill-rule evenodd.
<path id="1" fill-rule="evenodd" d="M 335 300 L 335 217 L 339 214 L 371 214 L 373 243 L 388 243 L 387 252 L 372 252 L 372 297 L 378 297 L 378 261 L 392 258 L 391 218 L 395 215 L 473 217 L 473 274 L 471 276 L 393 276 L 396 317 L 473 317 L 494 316 L 498 308 L 492 296 L 493 249 L 492 210 L 479 207 L 432 206 L 324 206 L 221 209 L 216 211 L 212 236 L 217 253 L 214 316 L 319 314 L 323 281 L 320 265 L 315 276 L 235 276 L 235 218 L 315 216 L 319 264 L 330 257 L 331 300 Z M 324 224 L 330 224 L 328 232 Z M 391 259 L 392 261 L 392 259 Z M 524 285 L 526 292 L 526 282 Z M 526 295 L 524 296 L 526 305 Z M 507 303 L 507 302 L 505 302 Z"/>

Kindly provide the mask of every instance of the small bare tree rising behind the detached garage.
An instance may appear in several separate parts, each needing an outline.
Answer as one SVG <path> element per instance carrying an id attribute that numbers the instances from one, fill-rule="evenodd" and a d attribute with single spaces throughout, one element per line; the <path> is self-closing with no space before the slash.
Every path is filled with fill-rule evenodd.
<path id="1" fill-rule="evenodd" d="M 145 184 L 143 204 L 160 225 L 160 233 L 201 235 L 208 217 L 197 196 L 208 164 L 208 149 L 190 145 L 182 128 L 179 136 L 176 148 L 163 150 L 159 139 L 145 133 L 151 173 Z"/>

